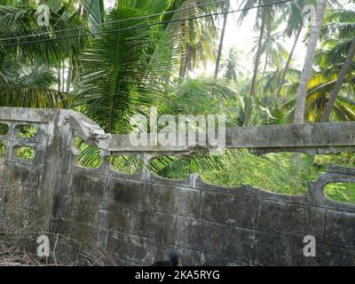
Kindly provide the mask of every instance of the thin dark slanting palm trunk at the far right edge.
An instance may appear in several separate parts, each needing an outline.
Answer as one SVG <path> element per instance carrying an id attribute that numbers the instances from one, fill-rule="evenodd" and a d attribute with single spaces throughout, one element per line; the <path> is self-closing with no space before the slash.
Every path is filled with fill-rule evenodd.
<path id="1" fill-rule="evenodd" d="M 336 96 L 338 95 L 339 91 L 342 89 L 343 82 L 345 80 L 345 75 L 348 73 L 348 71 L 351 67 L 352 59 L 354 58 L 354 56 L 355 56 L 355 39 L 353 39 L 351 42 L 350 50 L 348 52 L 348 55 L 346 56 L 342 70 L 339 73 L 339 76 L 338 76 L 338 79 L 335 83 L 334 89 L 331 91 L 331 93 L 329 95 L 327 107 L 322 115 L 321 122 L 328 122 L 329 121 L 329 116 L 330 116 L 333 106 L 335 104 Z"/>

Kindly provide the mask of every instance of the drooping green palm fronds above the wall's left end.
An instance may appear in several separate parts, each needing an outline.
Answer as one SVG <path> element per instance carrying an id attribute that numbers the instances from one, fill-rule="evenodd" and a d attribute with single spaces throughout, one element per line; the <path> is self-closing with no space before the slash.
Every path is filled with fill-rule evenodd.
<path id="1" fill-rule="evenodd" d="M 9 3 L 4 1 L 4 4 Z M 61 90 L 53 90 L 53 84 L 57 82 L 53 80 L 52 72 L 59 62 L 83 48 L 85 41 L 80 35 L 84 30 L 56 32 L 82 25 L 82 20 L 75 7 L 67 4 L 57 4 L 57 8 L 51 9 L 49 27 L 39 27 L 35 13 L 34 1 L 21 6 L 0 6 L 2 106 L 67 106 L 68 96 Z M 41 36 L 35 36 L 37 34 Z M 60 36 L 70 38 L 56 41 Z"/>

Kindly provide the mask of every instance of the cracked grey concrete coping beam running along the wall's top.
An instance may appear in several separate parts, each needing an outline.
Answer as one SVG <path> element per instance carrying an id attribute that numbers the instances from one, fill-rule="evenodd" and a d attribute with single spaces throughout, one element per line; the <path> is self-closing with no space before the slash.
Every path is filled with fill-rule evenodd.
<path id="1" fill-rule="evenodd" d="M 96 122 L 71 110 L 0 107 L 0 120 L 43 122 L 51 120 L 53 112 L 60 112 L 62 121 L 70 124 L 75 135 L 98 146 L 103 156 L 137 155 L 142 160 L 147 160 L 159 155 L 189 155 L 217 148 L 209 143 L 201 145 L 198 142 L 198 133 L 193 133 L 197 141 L 193 143 L 188 141 L 186 135 L 185 146 L 154 146 L 149 140 L 147 146 L 133 146 L 129 135 L 106 134 Z M 254 154 L 272 152 L 332 154 L 355 151 L 355 122 L 230 128 L 225 129 L 225 148 L 247 148 Z"/>

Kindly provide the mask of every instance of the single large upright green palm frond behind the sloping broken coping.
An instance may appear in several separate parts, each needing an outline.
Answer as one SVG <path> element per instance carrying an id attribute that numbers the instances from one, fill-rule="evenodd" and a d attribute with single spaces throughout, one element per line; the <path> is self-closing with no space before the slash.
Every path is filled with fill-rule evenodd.
<path id="1" fill-rule="evenodd" d="M 110 12 L 108 20 L 143 16 L 140 10 L 124 5 Z M 149 20 L 114 23 L 107 29 L 145 25 Z M 149 28 L 105 33 L 95 39 L 81 56 L 83 73 L 76 86 L 76 103 L 83 112 L 111 133 L 130 129 L 129 118 L 146 106 L 154 91 L 156 76 L 149 74 L 148 62 L 154 53 L 154 31 Z"/>

